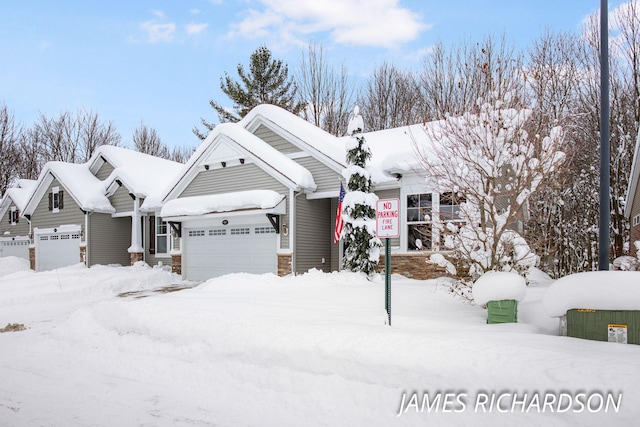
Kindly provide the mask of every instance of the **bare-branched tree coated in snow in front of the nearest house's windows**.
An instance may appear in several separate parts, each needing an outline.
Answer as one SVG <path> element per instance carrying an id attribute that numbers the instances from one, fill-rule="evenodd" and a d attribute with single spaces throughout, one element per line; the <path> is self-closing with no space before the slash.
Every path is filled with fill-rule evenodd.
<path id="1" fill-rule="evenodd" d="M 530 136 L 531 110 L 514 108 L 510 94 L 478 104 L 477 113 L 427 128 L 430 146 L 416 142 L 427 181 L 460 201 L 460 221 L 434 221 L 445 248 L 468 264 L 472 278 L 493 270 L 523 274 L 537 257 L 518 231 L 530 195 L 564 161 L 563 133 L 556 127 L 548 136 Z"/>

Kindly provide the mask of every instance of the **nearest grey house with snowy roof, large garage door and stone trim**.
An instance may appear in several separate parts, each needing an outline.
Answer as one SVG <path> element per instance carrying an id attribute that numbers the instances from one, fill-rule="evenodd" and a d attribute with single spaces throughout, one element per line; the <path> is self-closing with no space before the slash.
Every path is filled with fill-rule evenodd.
<path id="1" fill-rule="evenodd" d="M 412 141 L 426 133 L 416 125 L 364 136 L 375 193 L 401 200 L 394 272 L 429 277 L 436 267 L 425 260 L 438 247 L 430 215 L 443 210 L 453 218 L 456 207 L 417 172 Z M 342 251 L 333 234 L 346 139 L 272 105 L 218 125 L 166 191 L 142 206 L 155 217 L 156 250 L 162 246 L 176 270 L 195 280 L 338 270 Z"/>

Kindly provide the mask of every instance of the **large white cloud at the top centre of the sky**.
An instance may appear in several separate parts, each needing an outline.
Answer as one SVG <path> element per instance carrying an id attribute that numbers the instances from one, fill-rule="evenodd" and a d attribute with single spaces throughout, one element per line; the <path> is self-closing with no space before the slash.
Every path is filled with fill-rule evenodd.
<path id="1" fill-rule="evenodd" d="M 296 40 L 327 32 L 339 44 L 393 47 L 416 39 L 428 28 L 398 0 L 259 0 L 262 11 L 249 10 L 231 25 L 230 36 L 277 35 Z"/>

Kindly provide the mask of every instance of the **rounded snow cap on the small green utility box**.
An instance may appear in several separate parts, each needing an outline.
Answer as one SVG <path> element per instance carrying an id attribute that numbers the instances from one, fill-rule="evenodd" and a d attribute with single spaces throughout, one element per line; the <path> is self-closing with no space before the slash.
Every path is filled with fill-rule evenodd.
<path id="1" fill-rule="evenodd" d="M 503 299 L 520 302 L 526 294 L 527 284 L 524 277 L 517 273 L 490 271 L 480 276 L 473 284 L 473 299 L 477 305 Z"/>

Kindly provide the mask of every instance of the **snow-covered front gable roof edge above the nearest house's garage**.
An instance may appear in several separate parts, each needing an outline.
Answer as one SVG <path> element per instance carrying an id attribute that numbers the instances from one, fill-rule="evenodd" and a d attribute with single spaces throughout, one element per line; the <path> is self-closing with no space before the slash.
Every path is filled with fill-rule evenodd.
<path id="1" fill-rule="evenodd" d="M 176 197 L 203 170 L 202 168 L 213 163 L 212 156 L 217 156 L 215 158 L 218 160 L 224 160 L 225 153 L 235 153 L 236 156 L 241 154 L 294 190 L 314 191 L 316 189 L 313 175 L 306 168 L 238 123 L 223 123 L 209 133 L 160 197 L 147 198 L 142 209 L 157 209 L 163 202 Z"/>

